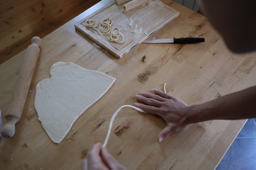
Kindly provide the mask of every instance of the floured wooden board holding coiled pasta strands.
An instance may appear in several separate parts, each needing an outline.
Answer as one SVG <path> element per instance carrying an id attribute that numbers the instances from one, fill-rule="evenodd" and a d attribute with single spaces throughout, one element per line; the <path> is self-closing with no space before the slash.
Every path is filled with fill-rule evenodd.
<path id="1" fill-rule="evenodd" d="M 158 0 L 149 0 L 147 4 L 138 6 L 125 13 L 122 11 L 122 6 L 117 6 L 114 2 L 110 1 L 110 4 L 107 4 L 104 8 L 95 11 L 92 15 L 76 23 L 75 27 L 112 53 L 112 55 L 121 58 L 146 40 L 146 38 L 149 38 L 156 30 L 159 30 L 178 16 L 178 11 Z M 105 18 L 112 19 L 112 28 L 119 28 L 124 38 L 123 43 L 110 42 L 107 39 L 107 35 L 100 35 L 96 30 L 88 29 L 84 26 L 87 19 L 100 23 Z"/>

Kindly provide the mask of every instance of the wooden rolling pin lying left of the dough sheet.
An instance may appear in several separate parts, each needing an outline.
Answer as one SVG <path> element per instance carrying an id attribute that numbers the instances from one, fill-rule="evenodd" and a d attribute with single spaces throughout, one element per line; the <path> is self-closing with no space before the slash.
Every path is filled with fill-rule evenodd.
<path id="1" fill-rule="evenodd" d="M 13 137 L 15 133 L 15 124 L 21 119 L 21 113 L 28 96 L 28 89 L 31 84 L 33 72 L 36 67 L 36 61 L 40 52 L 39 45 L 41 38 L 33 37 L 31 45 L 28 46 L 26 56 L 21 64 L 21 69 L 18 74 L 14 91 L 11 94 L 11 101 L 9 108 L 7 108 L 6 124 L 1 130 L 3 137 Z"/>

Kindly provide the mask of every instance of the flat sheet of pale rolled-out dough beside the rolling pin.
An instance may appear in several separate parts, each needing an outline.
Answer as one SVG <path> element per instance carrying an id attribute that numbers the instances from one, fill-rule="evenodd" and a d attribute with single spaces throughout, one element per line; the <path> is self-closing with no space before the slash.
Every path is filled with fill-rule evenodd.
<path id="1" fill-rule="evenodd" d="M 115 79 L 71 62 L 53 64 L 50 75 L 36 86 L 35 107 L 50 139 L 60 143 L 75 120 L 110 89 Z"/>

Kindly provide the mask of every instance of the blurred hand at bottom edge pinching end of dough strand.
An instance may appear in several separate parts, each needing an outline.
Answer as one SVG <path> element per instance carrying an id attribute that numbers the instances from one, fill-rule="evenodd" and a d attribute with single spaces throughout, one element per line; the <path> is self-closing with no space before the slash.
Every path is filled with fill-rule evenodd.
<path id="1" fill-rule="evenodd" d="M 82 170 L 125 170 L 105 147 L 97 143 L 92 147 L 87 159 L 82 164 Z"/>

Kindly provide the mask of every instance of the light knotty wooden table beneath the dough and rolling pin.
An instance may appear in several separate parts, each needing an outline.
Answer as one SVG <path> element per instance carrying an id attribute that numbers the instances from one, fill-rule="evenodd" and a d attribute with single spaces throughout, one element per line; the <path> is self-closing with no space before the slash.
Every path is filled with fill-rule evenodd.
<path id="1" fill-rule="evenodd" d="M 178 18 L 152 35 L 154 38 L 198 37 L 193 45 L 139 45 L 118 60 L 92 42 L 74 24 L 107 1 L 101 1 L 42 40 L 16 135 L 0 138 L 1 169 L 80 169 L 96 142 L 104 142 L 110 117 L 119 106 L 134 104 L 141 91 L 162 89 L 188 104 L 202 103 L 255 85 L 255 53 L 234 55 L 204 16 L 164 0 L 179 11 Z M 6 113 L 23 51 L 0 65 L 0 108 Z M 49 77 L 55 62 L 74 62 L 104 72 L 117 81 L 75 122 L 65 140 L 51 142 L 34 108 L 36 84 Z M 2 116 L 4 117 L 4 116 Z M 107 149 L 127 169 L 215 169 L 246 120 L 214 120 L 189 125 L 159 144 L 165 123 L 154 115 L 125 108 L 114 122 Z"/>

